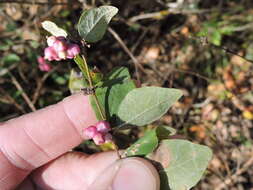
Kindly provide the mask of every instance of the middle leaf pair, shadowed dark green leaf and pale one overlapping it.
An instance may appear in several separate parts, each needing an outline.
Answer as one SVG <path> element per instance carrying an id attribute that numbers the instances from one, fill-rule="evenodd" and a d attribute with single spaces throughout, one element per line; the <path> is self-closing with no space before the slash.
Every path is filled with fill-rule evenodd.
<path id="1" fill-rule="evenodd" d="M 180 90 L 160 87 L 135 88 L 127 68 L 115 68 L 96 90 L 113 127 L 144 126 L 165 114 L 182 95 Z M 99 111 L 91 97 L 98 119 Z"/>

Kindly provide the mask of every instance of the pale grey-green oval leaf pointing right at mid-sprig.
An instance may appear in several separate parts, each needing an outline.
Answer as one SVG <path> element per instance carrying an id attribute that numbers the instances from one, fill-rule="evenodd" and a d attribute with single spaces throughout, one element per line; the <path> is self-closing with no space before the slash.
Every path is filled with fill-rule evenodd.
<path id="1" fill-rule="evenodd" d="M 129 92 L 120 104 L 119 125 L 147 125 L 164 115 L 170 106 L 182 96 L 173 88 L 143 87 Z"/>

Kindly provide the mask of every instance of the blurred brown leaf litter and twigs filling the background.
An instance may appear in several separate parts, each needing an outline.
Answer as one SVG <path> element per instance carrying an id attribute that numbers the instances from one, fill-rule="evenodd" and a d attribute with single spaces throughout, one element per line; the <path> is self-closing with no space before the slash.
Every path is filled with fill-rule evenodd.
<path id="1" fill-rule="evenodd" d="M 52 63 L 50 72 L 38 68 L 47 35 L 40 23 L 52 20 L 74 32 L 84 8 L 109 4 L 120 11 L 103 40 L 87 49 L 89 64 L 104 73 L 126 66 L 143 85 L 183 90 L 184 98 L 153 125 L 170 125 L 213 149 L 195 189 L 253 187 L 252 0 L 2 0 L 0 121 L 70 94 L 71 61 Z M 122 148 L 143 131 L 126 133 Z"/>

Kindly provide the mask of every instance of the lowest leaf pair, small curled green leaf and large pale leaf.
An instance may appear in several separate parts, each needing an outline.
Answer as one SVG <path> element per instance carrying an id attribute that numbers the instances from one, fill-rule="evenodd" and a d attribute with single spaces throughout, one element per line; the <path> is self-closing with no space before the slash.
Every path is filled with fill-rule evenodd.
<path id="1" fill-rule="evenodd" d="M 181 139 L 167 139 L 171 128 L 159 126 L 148 131 L 125 151 L 125 156 L 144 156 L 154 163 L 161 190 L 188 190 L 201 179 L 212 151 L 203 145 Z"/>

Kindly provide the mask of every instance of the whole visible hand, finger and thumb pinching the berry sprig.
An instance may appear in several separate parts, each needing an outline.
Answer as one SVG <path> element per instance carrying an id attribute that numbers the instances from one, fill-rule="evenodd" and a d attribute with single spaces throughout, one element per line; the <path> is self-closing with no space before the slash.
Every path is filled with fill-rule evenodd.
<path id="1" fill-rule="evenodd" d="M 144 159 L 70 151 L 95 123 L 87 96 L 76 94 L 0 124 L 0 189 L 158 190 L 157 171 Z"/>

